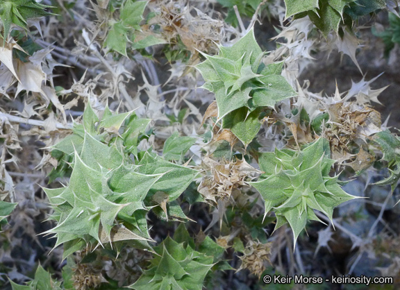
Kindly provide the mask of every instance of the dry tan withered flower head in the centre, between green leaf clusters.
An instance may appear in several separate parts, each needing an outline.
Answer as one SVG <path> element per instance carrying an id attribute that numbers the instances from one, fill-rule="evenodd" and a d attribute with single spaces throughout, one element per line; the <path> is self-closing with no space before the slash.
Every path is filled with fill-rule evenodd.
<path id="1" fill-rule="evenodd" d="M 200 182 L 198 191 L 207 201 L 228 200 L 235 189 L 245 185 L 245 181 L 254 178 L 261 171 L 251 167 L 246 160 L 213 160 L 203 157 L 201 166 L 208 172 Z"/>

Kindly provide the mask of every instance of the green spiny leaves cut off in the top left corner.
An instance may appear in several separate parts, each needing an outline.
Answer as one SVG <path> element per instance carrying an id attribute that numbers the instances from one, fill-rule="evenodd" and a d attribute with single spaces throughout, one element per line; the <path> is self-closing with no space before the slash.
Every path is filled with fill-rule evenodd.
<path id="1" fill-rule="evenodd" d="M 45 8 L 51 6 L 37 3 L 34 0 L 12 0 L 0 1 L 0 19 L 3 23 L 3 40 L 6 41 L 8 33 L 10 33 L 11 24 L 15 24 L 27 30 L 28 18 L 42 17 L 52 15 L 46 12 Z"/>

